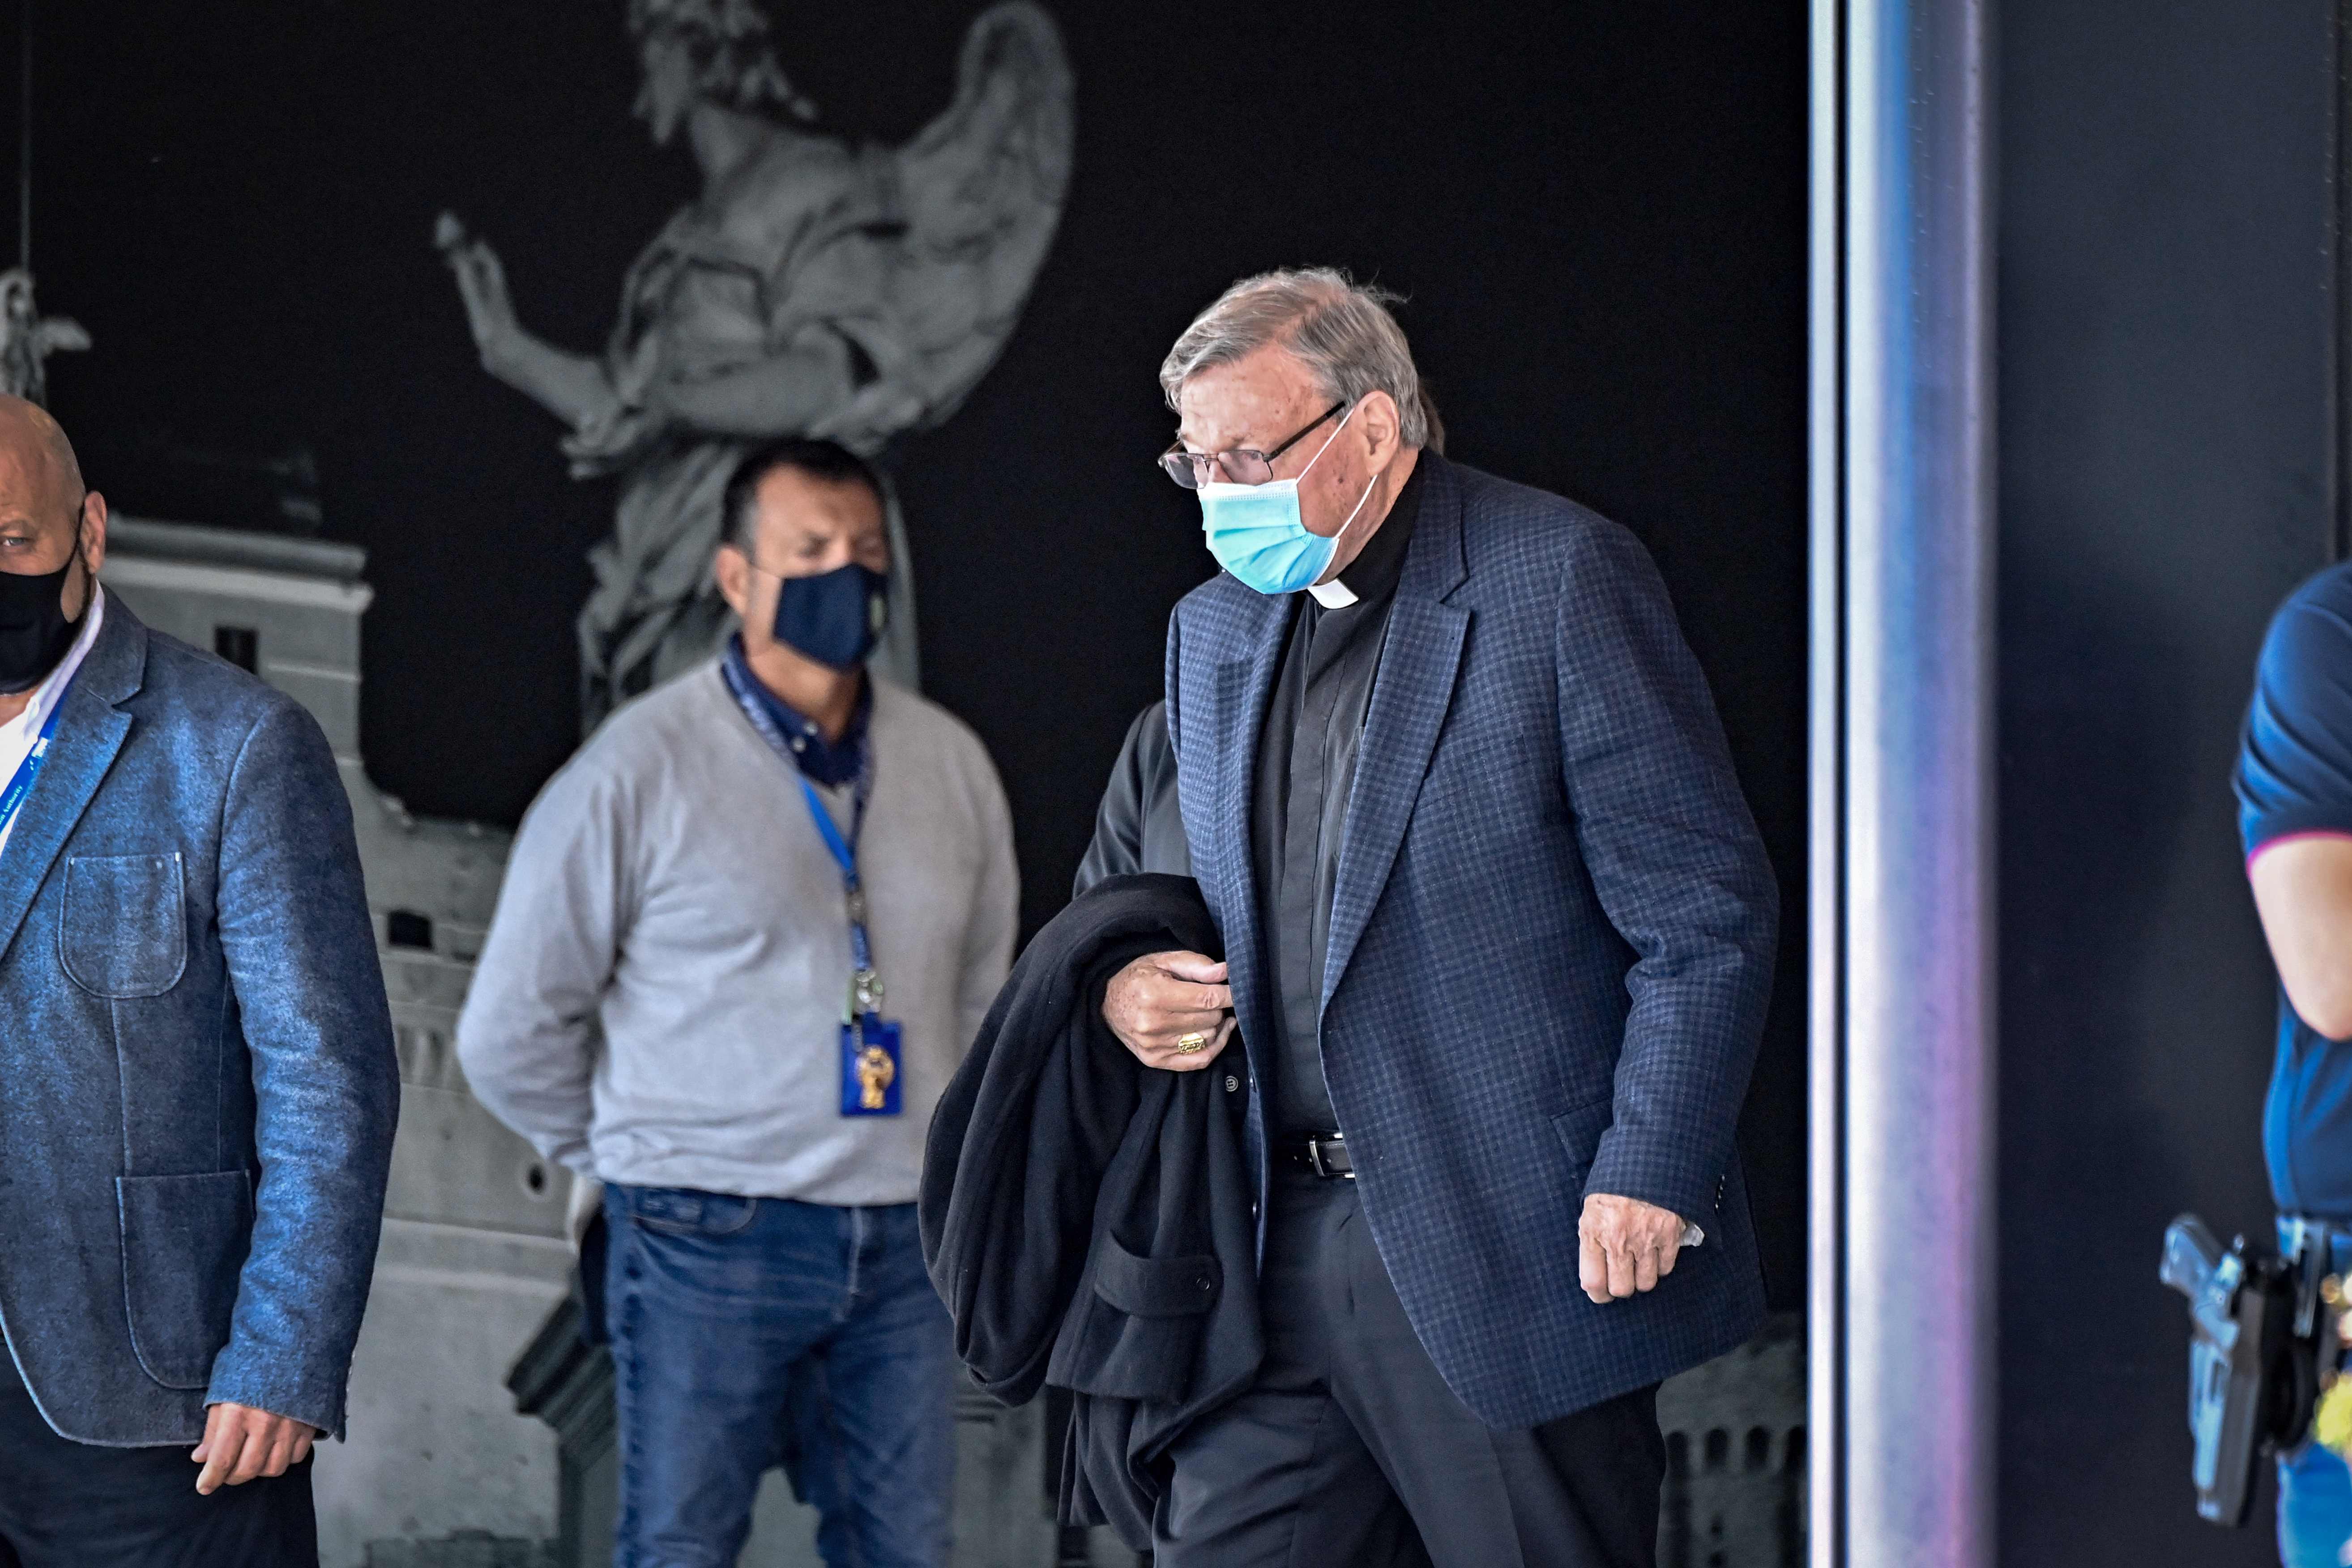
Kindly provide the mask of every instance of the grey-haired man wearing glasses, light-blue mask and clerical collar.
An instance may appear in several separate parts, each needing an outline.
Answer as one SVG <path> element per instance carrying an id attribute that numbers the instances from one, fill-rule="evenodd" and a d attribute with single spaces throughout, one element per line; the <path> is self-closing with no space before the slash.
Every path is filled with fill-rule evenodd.
<path id="1" fill-rule="evenodd" d="M 1646 1568 L 1658 1382 L 1764 1307 L 1778 903 L 1705 682 L 1630 534 L 1435 451 L 1378 292 L 1244 280 L 1160 378 L 1223 567 L 1167 729 L 1225 961 L 1103 1013 L 1247 1084 L 1268 1349 L 1155 1561 Z"/>

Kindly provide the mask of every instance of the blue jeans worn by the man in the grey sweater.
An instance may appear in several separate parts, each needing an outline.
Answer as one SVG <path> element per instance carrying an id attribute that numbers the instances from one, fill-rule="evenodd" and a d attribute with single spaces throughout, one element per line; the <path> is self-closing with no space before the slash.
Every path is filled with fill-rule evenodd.
<path id="1" fill-rule="evenodd" d="M 830 1568 L 946 1568 L 955 1347 L 915 1206 L 607 1187 L 614 1568 L 729 1568 L 779 1460 Z"/>

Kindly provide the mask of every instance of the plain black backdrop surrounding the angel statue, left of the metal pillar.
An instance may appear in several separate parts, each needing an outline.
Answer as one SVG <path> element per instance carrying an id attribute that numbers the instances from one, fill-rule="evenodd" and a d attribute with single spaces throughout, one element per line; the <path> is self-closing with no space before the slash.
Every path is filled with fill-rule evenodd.
<path id="1" fill-rule="evenodd" d="M 513 823 L 576 741 L 572 616 L 609 484 L 473 357 L 433 216 L 534 331 L 604 341 L 694 190 L 628 118 L 621 0 L 35 0 L 52 404 L 122 510 L 254 524 L 169 447 L 310 449 L 369 548 L 365 750 L 412 809 Z M 946 106 L 971 0 L 774 7 L 849 136 Z M 889 456 L 929 691 L 988 741 L 1035 929 L 1207 571 L 1152 371 L 1235 275 L 1341 263 L 1404 313 L 1470 463 L 1656 552 L 1788 891 L 1745 1143 L 1802 1300 L 1804 7 L 1058 5 L 1077 169 L 1004 360 Z M 0 59 L 5 63 L 5 59 Z M 0 80 L 14 80 L 7 71 Z M 0 165 L 5 167 L 5 165 Z M 5 240 L 0 240 L 5 252 Z"/>

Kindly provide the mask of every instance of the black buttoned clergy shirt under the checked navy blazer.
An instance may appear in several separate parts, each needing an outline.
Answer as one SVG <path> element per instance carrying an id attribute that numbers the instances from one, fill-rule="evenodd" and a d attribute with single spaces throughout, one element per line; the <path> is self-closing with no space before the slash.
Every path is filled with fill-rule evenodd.
<path id="1" fill-rule="evenodd" d="M 1388 637 L 1388 607 L 1404 574 L 1404 548 L 1421 512 L 1421 465 L 1364 550 L 1338 574 L 1355 604 L 1327 609 L 1312 592 L 1291 595 L 1291 637 L 1258 733 L 1249 853 L 1258 877 L 1265 961 L 1275 976 L 1275 1128 L 1331 1133 L 1331 1091 L 1322 1074 L 1322 973 L 1331 950 L 1331 891 L 1355 752 L 1371 708 L 1371 677 Z"/>

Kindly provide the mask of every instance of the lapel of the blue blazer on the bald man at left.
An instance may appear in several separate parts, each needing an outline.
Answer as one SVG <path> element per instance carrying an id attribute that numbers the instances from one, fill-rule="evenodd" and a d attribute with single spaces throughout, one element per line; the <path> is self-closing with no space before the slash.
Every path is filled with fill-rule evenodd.
<path id="1" fill-rule="evenodd" d="M 89 809 L 106 769 L 115 764 L 115 752 L 132 729 L 132 715 L 120 712 L 115 703 L 139 691 L 143 675 L 146 628 L 122 609 L 122 599 L 108 595 L 99 637 L 66 689 L 40 780 L 16 813 L 7 849 L 0 849 L 0 959 L 16 940 L 33 896 L 49 877 L 82 811 Z"/>

